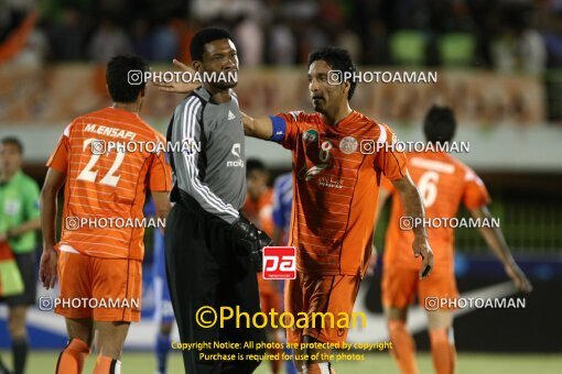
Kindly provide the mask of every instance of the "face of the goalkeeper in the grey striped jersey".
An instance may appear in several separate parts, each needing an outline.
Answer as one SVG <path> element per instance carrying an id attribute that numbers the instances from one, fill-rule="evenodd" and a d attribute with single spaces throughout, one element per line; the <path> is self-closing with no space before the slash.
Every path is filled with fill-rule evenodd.
<path id="1" fill-rule="evenodd" d="M 233 41 L 220 38 L 205 44 L 203 61 L 197 62 L 197 72 L 212 87 L 228 89 L 238 84 L 238 54 Z"/>

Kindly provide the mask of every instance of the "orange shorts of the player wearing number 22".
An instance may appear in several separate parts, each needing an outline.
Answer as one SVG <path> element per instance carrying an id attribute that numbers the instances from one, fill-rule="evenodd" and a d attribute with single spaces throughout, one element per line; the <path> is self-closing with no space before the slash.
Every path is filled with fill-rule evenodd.
<path id="1" fill-rule="evenodd" d="M 105 322 L 140 320 L 142 263 L 138 260 L 58 252 L 58 284 L 55 312 L 61 316 Z"/>

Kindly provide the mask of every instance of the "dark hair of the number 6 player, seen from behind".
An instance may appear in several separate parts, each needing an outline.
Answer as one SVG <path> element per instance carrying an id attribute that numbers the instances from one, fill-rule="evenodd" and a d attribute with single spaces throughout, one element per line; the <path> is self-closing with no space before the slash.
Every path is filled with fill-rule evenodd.
<path id="1" fill-rule="evenodd" d="M 451 142 L 455 136 L 455 113 L 448 107 L 433 106 L 425 114 L 423 132 L 430 143 L 443 144 Z"/>

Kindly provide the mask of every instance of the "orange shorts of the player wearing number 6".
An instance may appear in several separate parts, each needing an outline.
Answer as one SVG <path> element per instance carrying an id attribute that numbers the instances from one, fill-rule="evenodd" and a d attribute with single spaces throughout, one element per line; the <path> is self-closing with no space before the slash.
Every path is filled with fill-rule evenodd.
<path id="1" fill-rule="evenodd" d="M 419 273 L 420 271 L 417 268 L 399 265 L 383 266 L 382 305 L 406 308 L 413 304 L 415 295 L 418 295 L 418 301 L 422 308 L 428 306 L 428 310 L 434 310 L 433 307 L 437 299 L 456 299 L 458 297 L 452 266 L 435 267 L 423 280 L 420 280 Z"/>

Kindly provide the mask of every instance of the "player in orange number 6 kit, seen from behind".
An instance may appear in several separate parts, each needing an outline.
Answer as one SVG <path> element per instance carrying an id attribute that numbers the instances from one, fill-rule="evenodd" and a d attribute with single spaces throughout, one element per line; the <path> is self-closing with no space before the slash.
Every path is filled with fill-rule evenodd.
<path id="1" fill-rule="evenodd" d="M 429 143 L 453 140 L 456 121 L 448 108 L 433 107 L 424 121 Z M 491 219 L 487 205 L 490 198 L 478 176 L 455 157 L 443 152 L 408 154 L 408 169 L 418 186 L 425 208 L 425 216 L 454 218 L 464 204 L 476 219 Z M 409 216 L 402 209 L 395 186 L 383 178 L 379 194 L 379 211 L 385 200 L 392 196 L 392 210 L 387 229 L 382 266 L 382 305 L 388 321 L 393 356 L 402 373 L 418 373 L 414 342 L 406 329 L 407 311 L 415 295 L 422 306 L 425 298 L 455 299 L 454 230 L 428 228 L 430 245 L 434 251 L 435 267 L 430 278 L 418 282 L 418 262 L 408 256 L 414 240 L 409 230 L 400 229 L 400 219 Z M 403 226 L 403 224 L 402 224 Z M 404 228 L 406 229 L 406 228 Z M 480 233 L 505 266 L 517 288 L 530 292 L 531 285 L 517 266 L 499 229 L 480 228 Z M 456 351 L 453 339 L 453 310 L 428 310 L 431 351 L 437 373 L 454 373 Z"/>

